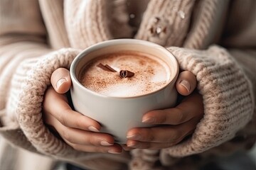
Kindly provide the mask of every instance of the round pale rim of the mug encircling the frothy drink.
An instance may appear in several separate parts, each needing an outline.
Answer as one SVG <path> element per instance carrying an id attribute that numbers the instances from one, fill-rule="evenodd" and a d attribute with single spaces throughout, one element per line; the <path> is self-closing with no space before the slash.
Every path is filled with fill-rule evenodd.
<path id="1" fill-rule="evenodd" d="M 112 45 L 122 45 L 122 44 L 139 44 L 139 45 L 151 45 L 154 47 L 158 47 L 160 50 L 169 53 L 169 56 L 171 56 L 174 60 L 174 65 L 176 66 L 176 69 L 174 69 L 176 71 L 176 74 L 174 75 L 174 77 L 168 82 L 166 83 L 164 86 L 161 86 L 161 88 L 155 90 L 155 91 L 151 91 L 147 94 L 140 94 L 140 95 L 135 95 L 135 96 L 107 96 L 105 94 L 100 94 L 97 93 L 96 91 L 92 91 L 90 89 L 87 89 L 85 86 L 83 86 L 80 81 L 78 81 L 78 78 L 75 75 L 76 72 L 76 67 L 78 65 L 78 63 L 82 60 L 82 58 L 89 54 L 90 52 L 93 52 L 97 49 L 102 49 L 104 47 L 109 47 Z M 167 63 L 168 64 L 168 63 Z M 170 65 L 168 64 L 168 66 L 170 67 Z M 163 90 L 166 88 L 166 86 L 169 86 L 170 84 L 173 84 L 174 81 L 176 81 L 176 79 L 178 78 L 178 72 L 179 72 L 179 65 L 178 65 L 178 61 L 176 60 L 176 57 L 169 51 L 166 49 L 166 47 L 163 47 L 161 45 L 158 45 L 154 42 L 149 42 L 146 40 L 137 40 L 137 39 L 129 39 L 129 38 L 121 38 L 121 39 L 114 39 L 114 40 L 105 40 L 102 42 L 98 42 L 95 45 L 91 45 L 90 47 L 85 48 L 85 50 L 82 50 L 82 52 L 80 52 L 75 59 L 73 60 L 73 62 L 70 65 L 70 77 L 72 80 L 72 86 L 74 86 L 74 84 L 76 84 L 77 86 L 80 87 L 80 89 L 87 91 L 87 93 L 92 94 L 94 96 L 99 96 L 101 98 L 118 98 L 118 99 L 126 99 L 126 98 L 139 98 L 139 97 L 145 97 L 145 96 L 149 96 L 152 94 L 156 94 L 159 91 Z"/>

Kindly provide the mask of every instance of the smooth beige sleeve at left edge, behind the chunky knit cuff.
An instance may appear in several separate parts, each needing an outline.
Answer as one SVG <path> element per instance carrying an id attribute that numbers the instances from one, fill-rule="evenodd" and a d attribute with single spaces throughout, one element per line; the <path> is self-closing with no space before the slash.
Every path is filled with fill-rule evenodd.
<path id="1" fill-rule="evenodd" d="M 50 52 L 45 35 L 37 1 L 0 1 L 0 134 L 32 151 L 36 149 L 16 120 L 14 103 L 21 82 L 13 78 L 25 74 L 14 74 L 21 62 Z"/>

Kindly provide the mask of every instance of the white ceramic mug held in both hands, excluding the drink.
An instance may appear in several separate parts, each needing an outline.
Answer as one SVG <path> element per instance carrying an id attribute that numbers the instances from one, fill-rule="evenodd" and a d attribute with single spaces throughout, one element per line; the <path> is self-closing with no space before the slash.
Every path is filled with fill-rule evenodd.
<path id="1" fill-rule="evenodd" d="M 87 62 L 106 52 L 120 50 L 136 50 L 160 57 L 171 70 L 168 84 L 149 94 L 132 97 L 105 96 L 80 84 L 78 75 Z M 169 50 L 152 42 L 117 39 L 92 45 L 75 57 L 70 67 L 70 76 L 73 82 L 70 92 L 75 111 L 97 120 L 102 125 L 101 132 L 113 135 L 117 143 L 126 143 L 129 129 L 149 127 L 148 124 L 142 123 L 144 113 L 171 108 L 176 103 L 175 82 L 178 77 L 178 62 Z"/>

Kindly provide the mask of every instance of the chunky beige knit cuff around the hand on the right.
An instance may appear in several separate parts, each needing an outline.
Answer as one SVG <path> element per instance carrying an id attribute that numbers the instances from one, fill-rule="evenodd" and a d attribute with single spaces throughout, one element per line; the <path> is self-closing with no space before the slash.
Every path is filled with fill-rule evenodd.
<path id="1" fill-rule="evenodd" d="M 217 45 L 208 50 L 169 47 L 181 69 L 193 72 L 203 96 L 204 116 L 192 137 L 164 149 L 173 157 L 204 152 L 235 137 L 251 120 L 252 85 L 230 54 Z"/>

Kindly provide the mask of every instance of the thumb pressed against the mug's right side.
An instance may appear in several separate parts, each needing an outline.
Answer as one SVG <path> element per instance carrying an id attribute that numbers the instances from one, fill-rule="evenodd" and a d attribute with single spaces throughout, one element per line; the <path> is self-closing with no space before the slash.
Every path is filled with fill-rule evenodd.
<path id="1" fill-rule="evenodd" d="M 179 94 L 188 96 L 196 89 L 196 77 L 192 72 L 183 71 L 178 75 L 176 89 Z"/>

